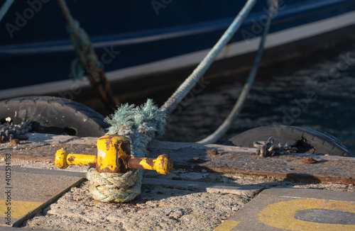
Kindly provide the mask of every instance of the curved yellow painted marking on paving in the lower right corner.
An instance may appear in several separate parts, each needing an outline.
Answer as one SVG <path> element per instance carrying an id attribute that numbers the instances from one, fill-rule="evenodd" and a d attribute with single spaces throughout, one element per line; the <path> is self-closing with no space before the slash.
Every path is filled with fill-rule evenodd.
<path id="1" fill-rule="evenodd" d="M 295 219 L 295 213 L 299 210 L 311 208 L 340 210 L 355 213 L 355 203 L 346 201 L 330 201 L 319 199 L 297 199 L 292 201 L 281 201 L 268 205 L 258 213 L 258 220 L 266 225 L 287 230 L 342 230 L 354 231 L 355 225 L 325 224 Z"/>

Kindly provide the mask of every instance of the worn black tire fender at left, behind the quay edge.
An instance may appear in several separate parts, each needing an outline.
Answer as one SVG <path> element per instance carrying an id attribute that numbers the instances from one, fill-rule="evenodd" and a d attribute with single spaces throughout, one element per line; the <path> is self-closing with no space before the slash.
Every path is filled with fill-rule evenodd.
<path id="1" fill-rule="evenodd" d="M 16 123 L 32 120 L 36 133 L 100 137 L 108 124 L 104 116 L 66 98 L 26 96 L 0 101 L 0 120 L 10 117 Z"/>

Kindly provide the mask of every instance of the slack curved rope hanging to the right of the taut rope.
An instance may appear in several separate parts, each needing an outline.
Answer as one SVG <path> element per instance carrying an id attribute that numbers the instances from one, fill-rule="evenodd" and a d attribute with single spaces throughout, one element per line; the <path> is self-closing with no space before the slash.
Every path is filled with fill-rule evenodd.
<path id="1" fill-rule="evenodd" d="M 216 142 L 217 140 L 219 140 L 220 137 L 222 137 L 222 135 L 224 135 L 224 133 L 226 133 L 226 131 L 231 125 L 231 122 L 239 115 L 241 108 L 243 108 L 244 101 L 246 100 L 246 96 L 248 96 L 251 86 L 253 85 L 256 72 L 258 71 L 258 64 L 261 60 L 261 55 L 263 54 L 266 35 L 268 35 L 268 30 L 270 29 L 271 18 L 277 9 L 278 1 L 273 0 L 268 2 L 268 20 L 266 21 L 266 26 L 263 30 L 263 35 L 261 36 L 258 52 L 256 53 L 256 57 L 253 62 L 253 67 L 251 68 L 251 72 L 249 73 L 249 76 L 246 80 L 246 84 L 244 84 L 241 94 L 236 103 L 234 104 L 232 111 L 229 113 L 229 116 L 226 118 L 226 120 L 224 120 L 222 125 L 220 125 L 219 128 L 214 131 L 214 133 L 212 133 L 208 137 L 205 137 L 203 140 L 198 141 L 197 143 L 206 145 Z"/>

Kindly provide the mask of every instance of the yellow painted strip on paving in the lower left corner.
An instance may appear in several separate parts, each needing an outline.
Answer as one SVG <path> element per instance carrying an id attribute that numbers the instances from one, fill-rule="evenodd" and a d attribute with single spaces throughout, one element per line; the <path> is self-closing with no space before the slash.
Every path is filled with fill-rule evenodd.
<path id="1" fill-rule="evenodd" d="M 11 201 L 11 204 L 6 200 L 0 200 L 0 217 L 7 218 L 8 208 L 11 211 L 11 218 L 22 218 L 27 213 L 30 213 L 32 210 L 38 208 L 43 203 L 40 202 L 29 202 L 29 201 Z"/>

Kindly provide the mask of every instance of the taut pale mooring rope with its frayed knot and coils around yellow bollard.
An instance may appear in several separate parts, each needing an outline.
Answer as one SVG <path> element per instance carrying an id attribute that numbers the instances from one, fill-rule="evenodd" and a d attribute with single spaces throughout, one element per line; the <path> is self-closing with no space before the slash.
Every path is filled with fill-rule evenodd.
<path id="1" fill-rule="evenodd" d="M 112 116 L 105 119 L 105 122 L 111 124 L 107 134 L 129 137 L 131 140 L 132 156 L 146 157 L 148 155 L 148 143 L 155 137 L 160 137 L 165 132 L 165 118 L 173 112 L 182 98 L 186 96 L 204 72 L 206 72 L 222 48 L 241 26 L 241 23 L 255 3 L 256 0 L 248 0 L 246 2 L 243 9 L 231 23 L 231 26 L 222 35 L 222 38 L 219 39 L 194 72 L 190 74 L 161 108 L 155 106 L 151 99 L 148 99 L 146 104 L 138 108 L 129 106 L 128 104 L 121 106 L 117 108 Z M 267 30 L 268 28 L 264 30 L 264 33 Z M 256 60 L 260 60 L 260 57 Z M 253 72 L 256 72 L 256 70 Z M 255 73 L 253 75 L 255 76 Z M 87 179 L 92 183 L 89 190 L 93 198 L 105 202 L 127 202 L 131 201 L 141 192 L 142 170 L 134 169 L 126 174 L 103 174 L 99 173 L 97 169 L 92 168 L 87 172 Z"/>

